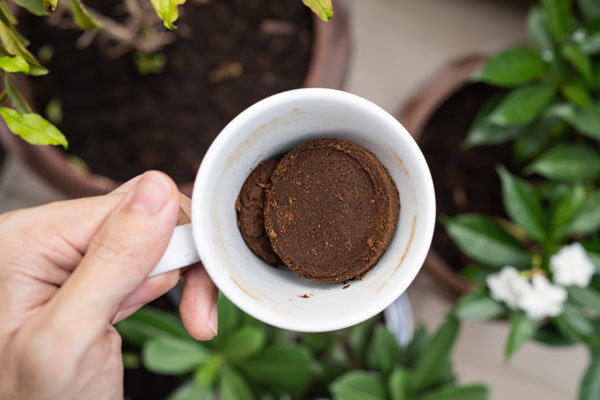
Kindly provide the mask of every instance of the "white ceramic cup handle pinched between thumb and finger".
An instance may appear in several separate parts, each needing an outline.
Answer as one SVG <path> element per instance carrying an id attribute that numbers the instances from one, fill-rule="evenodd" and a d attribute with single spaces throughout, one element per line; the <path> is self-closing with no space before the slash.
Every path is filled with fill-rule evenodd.
<path id="1" fill-rule="evenodd" d="M 173 236 L 171 236 L 165 254 L 148 276 L 183 268 L 198 261 L 200 261 L 200 256 L 198 256 L 198 250 L 194 243 L 192 224 L 179 225 L 173 230 Z"/>

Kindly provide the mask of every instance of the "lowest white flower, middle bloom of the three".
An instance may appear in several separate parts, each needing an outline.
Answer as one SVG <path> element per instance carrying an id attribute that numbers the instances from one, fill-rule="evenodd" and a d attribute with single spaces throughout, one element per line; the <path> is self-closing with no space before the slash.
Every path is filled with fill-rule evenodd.
<path id="1" fill-rule="evenodd" d="M 534 275 L 532 282 L 531 290 L 519 298 L 518 307 L 525 311 L 529 318 L 535 320 L 560 314 L 567 299 L 567 291 L 551 284 L 548 278 L 542 275 Z"/>

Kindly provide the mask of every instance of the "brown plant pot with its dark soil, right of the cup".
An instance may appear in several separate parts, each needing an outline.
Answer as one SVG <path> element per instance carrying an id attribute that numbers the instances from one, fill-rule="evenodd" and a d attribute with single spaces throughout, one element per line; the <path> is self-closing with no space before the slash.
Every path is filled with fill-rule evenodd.
<path id="1" fill-rule="evenodd" d="M 486 59 L 486 56 L 476 55 L 450 65 L 413 96 L 398 116 L 419 142 L 428 160 L 436 187 L 439 216 L 465 212 L 504 215 L 495 166 L 514 167 L 512 148 L 507 144 L 475 147 L 468 151 L 460 148 L 479 107 L 499 92 L 489 86 L 467 82 Z M 453 179 L 456 189 L 452 189 L 450 181 Z M 463 185 L 465 180 L 467 185 Z M 451 189 L 457 192 L 450 193 Z M 465 204 L 459 207 L 457 202 Z M 469 262 L 438 222 L 425 270 L 448 295 L 456 298 L 472 286 L 459 273 Z"/>

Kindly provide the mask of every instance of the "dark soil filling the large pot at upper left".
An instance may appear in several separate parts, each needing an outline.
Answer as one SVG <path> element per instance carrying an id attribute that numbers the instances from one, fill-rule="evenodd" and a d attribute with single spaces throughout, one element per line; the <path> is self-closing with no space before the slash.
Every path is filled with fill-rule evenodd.
<path id="1" fill-rule="evenodd" d="M 122 0 L 86 5 L 115 19 Z M 43 112 L 63 103 L 59 128 L 69 152 L 116 180 L 159 169 L 176 181 L 193 180 L 221 129 L 271 94 L 301 87 L 312 50 L 311 13 L 300 1 L 188 1 L 179 7 L 177 41 L 165 70 L 141 75 L 132 53 L 108 59 L 98 42 L 75 47 L 81 32 L 31 18 L 34 53 L 54 48 L 50 75 L 32 79 Z M 238 76 L 239 74 L 239 76 Z"/>

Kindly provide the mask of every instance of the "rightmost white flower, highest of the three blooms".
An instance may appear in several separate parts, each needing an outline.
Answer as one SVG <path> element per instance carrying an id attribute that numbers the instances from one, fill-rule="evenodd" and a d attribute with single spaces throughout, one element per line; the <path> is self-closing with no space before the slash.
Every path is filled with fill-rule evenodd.
<path id="1" fill-rule="evenodd" d="M 587 287 L 596 272 L 594 264 L 579 243 L 565 246 L 550 257 L 550 270 L 554 282 L 562 286 Z"/>

